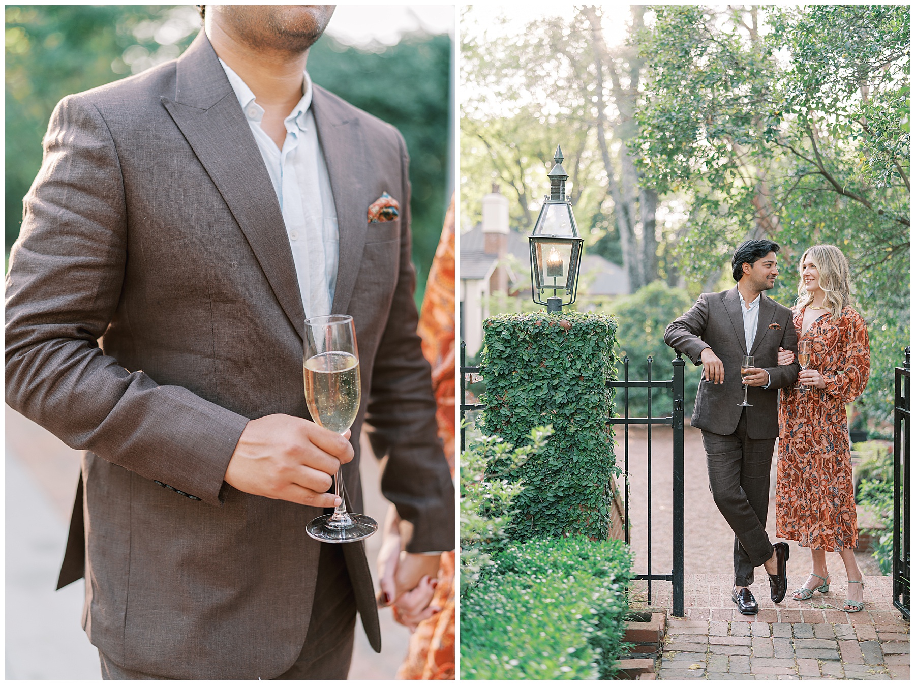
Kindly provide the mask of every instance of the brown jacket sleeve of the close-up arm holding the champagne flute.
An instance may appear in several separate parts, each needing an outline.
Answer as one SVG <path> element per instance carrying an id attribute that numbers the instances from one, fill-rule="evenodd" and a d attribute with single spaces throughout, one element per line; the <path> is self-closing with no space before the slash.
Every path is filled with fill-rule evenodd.
<path id="1" fill-rule="evenodd" d="M 80 95 L 51 115 L 6 278 L 6 402 L 70 447 L 220 505 L 247 419 L 102 353 L 127 255 L 111 133 Z"/>

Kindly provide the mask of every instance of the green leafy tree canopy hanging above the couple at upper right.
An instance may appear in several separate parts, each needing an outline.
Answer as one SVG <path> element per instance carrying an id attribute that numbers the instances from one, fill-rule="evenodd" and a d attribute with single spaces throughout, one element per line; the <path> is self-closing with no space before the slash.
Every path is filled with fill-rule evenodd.
<path id="1" fill-rule="evenodd" d="M 872 347 L 863 406 L 883 419 L 909 341 L 909 8 L 655 8 L 637 114 L 640 173 L 683 192 L 684 272 L 715 275 L 732 245 L 784 246 L 793 304 L 803 250 L 837 245 Z M 786 263 L 787 262 L 787 263 Z"/>

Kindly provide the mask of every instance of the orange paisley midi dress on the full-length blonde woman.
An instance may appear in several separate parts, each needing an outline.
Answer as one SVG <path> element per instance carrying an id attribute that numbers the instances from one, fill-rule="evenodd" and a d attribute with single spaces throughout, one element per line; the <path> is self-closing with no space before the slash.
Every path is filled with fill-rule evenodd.
<path id="1" fill-rule="evenodd" d="M 809 368 L 826 387 L 782 388 L 779 403 L 779 475 L 775 527 L 779 538 L 827 552 L 857 548 L 845 404 L 864 392 L 870 375 L 867 326 L 851 307 L 838 321 L 823 313 L 801 335 L 803 310 L 794 314 L 798 342 L 811 343 Z"/>

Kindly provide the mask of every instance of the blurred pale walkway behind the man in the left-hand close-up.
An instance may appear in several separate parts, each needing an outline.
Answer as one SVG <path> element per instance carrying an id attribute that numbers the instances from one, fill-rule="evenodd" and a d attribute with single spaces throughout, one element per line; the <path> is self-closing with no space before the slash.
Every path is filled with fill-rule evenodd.
<path id="1" fill-rule="evenodd" d="M 10 408 L 6 442 L 6 678 L 101 680 L 98 651 L 80 627 L 85 585 L 54 591 L 67 541 L 80 454 Z M 384 519 L 387 501 L 378 489 L 378 463 L 368 440 L 361 470 L 367 514 Z M 366 541 L 371 572 L 381 536 Z M 377 582 L 376 582 L 377 585 Z M 350 680 L 392 680 L 407 653 L 409 631 L 379 612 L 383 649 L 372 651 L 356 625 Z"/>

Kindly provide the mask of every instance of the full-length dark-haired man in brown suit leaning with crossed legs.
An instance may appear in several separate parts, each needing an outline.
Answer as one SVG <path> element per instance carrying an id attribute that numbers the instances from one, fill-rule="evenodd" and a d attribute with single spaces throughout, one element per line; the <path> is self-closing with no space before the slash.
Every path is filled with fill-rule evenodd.
<path id="1" fill-rule="evenodd" d="M 737 286 L 704 293 L 664 332 L 664 342 L 705 365 L 692 423 L 702 429 L 715 503 L 734 530 L 731 598 L 741 614 L 759 611 L 749 590 L 755 567 L 769 573 L 773 602 L 784 599 L 788 586 L 788 545 L 772 545 L 766 534 L 770 465 L 779 437 L 778 388 L 794 383 L 800 368 L 778 364 L 780 348 L 797 353 L 791 310 L 763 295 L 779 275 L 778 251 L 771 240 L 739 245 L 731 259 Z M 753 357 L 755 367 L 741 381 L 744 355 Z M 739 406 L 745 385 L 752 407 Z"/>

